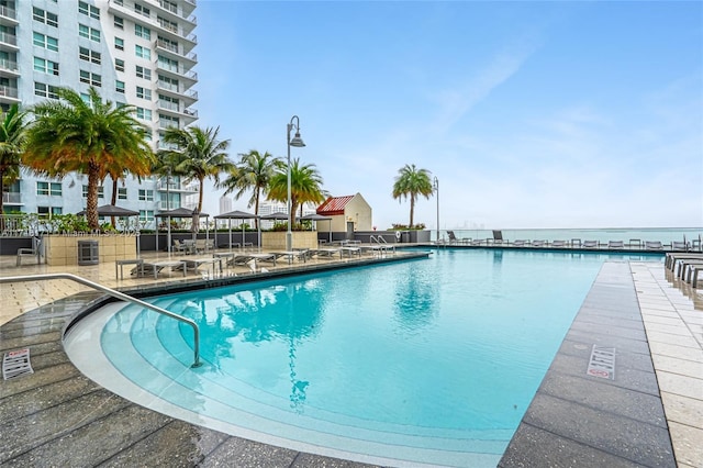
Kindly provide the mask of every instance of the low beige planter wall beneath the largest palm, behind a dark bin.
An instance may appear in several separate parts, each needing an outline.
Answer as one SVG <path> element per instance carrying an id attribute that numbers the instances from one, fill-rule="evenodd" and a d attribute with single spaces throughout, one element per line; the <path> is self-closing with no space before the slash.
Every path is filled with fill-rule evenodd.
<path id="1" fill-rule="evenodd" d="M 98 258 L 100 263 L 136 258 L 136 238 L 134 235 L 47 235 L 44 236 L 46 265 L 78 265 L 78 241 L 98 241 Z"/>

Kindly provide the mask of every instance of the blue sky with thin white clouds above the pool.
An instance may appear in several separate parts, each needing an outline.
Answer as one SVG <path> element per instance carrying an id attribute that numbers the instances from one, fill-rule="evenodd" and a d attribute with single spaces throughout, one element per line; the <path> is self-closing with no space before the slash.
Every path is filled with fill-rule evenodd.
<path id="1" fill-rule="evenodd" d="M 286 157 L 378 229 L 405 164 L 440 229 L 703 226 L 703 3 L 199 0 L 200 126 Z M 216 190 L 205 211 L 217 212 Z M 235 209 L 252 211 L 245 198 Z M 436 199 L 415 222 L 436 227 Z"/>

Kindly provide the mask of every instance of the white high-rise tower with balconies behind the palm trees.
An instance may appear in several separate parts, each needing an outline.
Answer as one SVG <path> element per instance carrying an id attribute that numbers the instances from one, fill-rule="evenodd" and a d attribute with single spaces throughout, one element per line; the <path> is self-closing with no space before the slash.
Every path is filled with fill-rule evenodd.
<path id="1" fill-rule="evenodd" d="M 198 120 L 194 10 L 196 0 L 2 0 L 0 108 L 57 99 L 58 87 L 87 99 L 92 86 L 103 100 L 134 105 L 135 118 L 150 129 L 153 149 L 165 147 L 167 127 Z M 152 229 L 159 211 L 196 208 L 198 183 L 186 186 L 178 177 L 168 182 L 127 175 L 118 183 L 118 204 L 138 211 Z M 4 211 L 77 213 L 86 207 L 87 185 L 78 174 L 51 179 L 23 169 L 2 193 Z M 108 177 L 98 203 L 111 198 Z"/>

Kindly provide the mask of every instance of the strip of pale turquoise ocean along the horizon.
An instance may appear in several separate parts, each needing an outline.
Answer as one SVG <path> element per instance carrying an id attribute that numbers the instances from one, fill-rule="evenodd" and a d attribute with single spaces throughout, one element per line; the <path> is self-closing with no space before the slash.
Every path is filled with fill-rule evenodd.
<path id="1" fill-rule="evenodd" d="M 451 230 L 450 230 L 451 231 Z M 493 238 L 492 230 L 453 230 L 457 238 Z M 613 229 L 579 229 L 579 230 L 501 230 L 503 238 L 507 241 L 623 241 L 631 239 L 659 241 L 662 244 L 671 242 L 701 242 L 703 227 L 613 227 Z M 437 232 L 432 231 L 432 239 L 436 239 Z M 439 230 L 439 237 L 447 237 L 446 230 Z"/>

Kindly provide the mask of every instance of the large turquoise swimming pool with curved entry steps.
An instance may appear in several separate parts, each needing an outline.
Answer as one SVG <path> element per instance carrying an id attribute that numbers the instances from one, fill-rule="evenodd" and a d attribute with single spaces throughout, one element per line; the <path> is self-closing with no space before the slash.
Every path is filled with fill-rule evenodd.
<path id="1" fill-rule="evenodd" d="M 442 249 L 154 299 L 199 322 L 198 369 L 190 330 L 133 307 L 93 314 L 67 352 L 102 355 L 92 365 L 115 372 L 100 383 L 119 394 L 248 438 L 384 465 L 495 466 L 604 258 Z M 69 344 L 94 326 L 97 349 Z"/>

